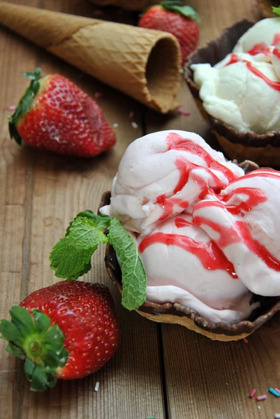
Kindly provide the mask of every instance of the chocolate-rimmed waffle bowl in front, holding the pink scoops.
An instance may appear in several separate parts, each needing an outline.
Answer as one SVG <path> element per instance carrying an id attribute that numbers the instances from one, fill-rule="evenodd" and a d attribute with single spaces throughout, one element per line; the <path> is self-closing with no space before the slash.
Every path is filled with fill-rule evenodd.
<path id="1" fill-rule="evenodd" d="M 251 161 L 244 161 L 240 166 L 245 172 L 256 170 L 258 165 Z M 110 191 L 103 194 L 100 207 L 110 204 Z M 110 279 L 122 293 L 121 269 L 117 260 L 115 250 L 110 244 L 106 247 L 105 266 Z M 201 333 L 213 340 L 236 341 L 251 335 L 261 325 L 266 323 L 277 311 L 280 310 L 280 297 L 261 297 L 253 295 L 251 303 L 259 302 L 259 307 L 253 310 L 248 320 L 235 324 L 212 323 L 202 318 L 195 310 L 184 307 L 182 304 L 170 303 L 158 304 L 146 301 L 139 307 L 138 314 L 158 323 L 175 323 L 183 325 L 195 332 Z"/>

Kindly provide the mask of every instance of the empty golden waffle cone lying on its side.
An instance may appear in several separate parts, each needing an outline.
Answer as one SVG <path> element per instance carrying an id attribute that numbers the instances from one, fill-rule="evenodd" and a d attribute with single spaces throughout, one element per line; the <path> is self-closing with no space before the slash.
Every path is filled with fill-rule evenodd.
<path id="1" fill-rule="evenodd" d="M 181 55 L 171 34 L 5 1 L 0 24 L 154 110 L 178 106 Z"/>

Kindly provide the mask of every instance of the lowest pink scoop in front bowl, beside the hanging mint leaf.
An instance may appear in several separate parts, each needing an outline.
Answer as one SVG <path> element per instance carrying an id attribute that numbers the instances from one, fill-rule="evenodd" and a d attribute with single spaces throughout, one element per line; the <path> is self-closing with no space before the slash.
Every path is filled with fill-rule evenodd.
<path id="1" fill-rule="evenodd" d="M 179 302 L 210 321 L 228 323 L 255 308 L 232 263 L 190 215 L 163 221 L 137 241 L 147 272 L 147 300 Z"/>

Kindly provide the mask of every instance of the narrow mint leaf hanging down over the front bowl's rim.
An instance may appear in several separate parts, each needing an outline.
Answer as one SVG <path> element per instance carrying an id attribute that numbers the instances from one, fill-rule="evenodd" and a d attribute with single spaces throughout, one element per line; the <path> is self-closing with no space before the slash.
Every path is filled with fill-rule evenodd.
<path id="1" fill-rule="evenodd" d="M 108 238 L 121 263 L 121 304 L 128 310 L 138 309 L 146 301 L 147 281 L 137 244 L 115 216 L 110 222 Z"/>

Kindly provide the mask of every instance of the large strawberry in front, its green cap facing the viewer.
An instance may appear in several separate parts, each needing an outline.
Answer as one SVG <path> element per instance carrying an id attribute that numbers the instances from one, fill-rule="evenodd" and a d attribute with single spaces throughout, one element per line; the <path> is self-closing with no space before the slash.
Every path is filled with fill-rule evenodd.
<path id="1" fill-rule="evenodd" d="M 6 351 L 24 360 L 31 390 L 82 378 L 110 360 L 121 333 L 108 287 L 61 281 L 31 293 L 0 323 Z"/>

